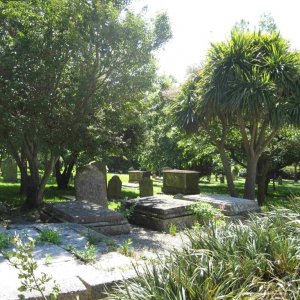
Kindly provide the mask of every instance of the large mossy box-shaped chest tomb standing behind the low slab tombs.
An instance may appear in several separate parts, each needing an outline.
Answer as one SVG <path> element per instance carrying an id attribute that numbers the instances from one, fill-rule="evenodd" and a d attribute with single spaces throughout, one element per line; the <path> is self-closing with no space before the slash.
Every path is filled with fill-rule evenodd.
<path id="1" fill-rule="evenodd" d="M 197 194 L 199 193 L 199 172 L 189 170 L 163 171 L 162 191 L 166 194 Z"/>

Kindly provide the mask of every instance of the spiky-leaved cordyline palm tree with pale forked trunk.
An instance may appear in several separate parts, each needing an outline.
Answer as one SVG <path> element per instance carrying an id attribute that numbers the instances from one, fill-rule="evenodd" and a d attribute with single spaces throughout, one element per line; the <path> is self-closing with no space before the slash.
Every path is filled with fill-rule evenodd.
<path id="1" fill-rule="evenodd" d="M 233 31 L 212 45 L 200 72 L 192 121 L 238 126 L 247 158 L 244 198 L 254 199 L 258 159 L 278 130 L 299 121 L 299 66 L 299 54 L 278 33 Z"/>

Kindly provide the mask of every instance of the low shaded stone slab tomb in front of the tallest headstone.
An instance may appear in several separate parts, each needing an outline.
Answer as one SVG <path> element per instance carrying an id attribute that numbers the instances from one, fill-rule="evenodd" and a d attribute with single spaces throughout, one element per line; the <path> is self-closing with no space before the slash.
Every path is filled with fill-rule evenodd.
<path id="1" fill-rule="evenodd" d="M 87 201 L 45 203 L 43 212 L 53 219 L 82 224 L 102 234 L 130 232 L 130 225 L 122 214 Z"/>

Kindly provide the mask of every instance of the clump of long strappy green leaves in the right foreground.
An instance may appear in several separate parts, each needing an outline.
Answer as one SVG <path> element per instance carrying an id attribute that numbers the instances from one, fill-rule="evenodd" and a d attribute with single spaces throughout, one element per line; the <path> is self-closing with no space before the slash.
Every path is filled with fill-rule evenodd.
<path id="1" fill-rule="evenodd" d="M 187 235 L 191 246 L 136 268 L 109 299 L 299 299 L 298 213 L 277 210 Z"/>

